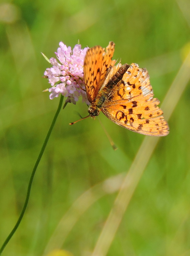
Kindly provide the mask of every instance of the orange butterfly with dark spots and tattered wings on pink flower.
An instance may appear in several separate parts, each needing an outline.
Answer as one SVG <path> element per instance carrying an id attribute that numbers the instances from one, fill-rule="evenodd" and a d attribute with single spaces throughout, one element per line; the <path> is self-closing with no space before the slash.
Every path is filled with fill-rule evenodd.
<path id="1" fill-rule="evenodd" d="M 89 116 L 103 112 L 114 123 L 151 136 L 165 136 L 169 133 L 160 101 L 153 98 L 146 68 L 111 60 L 115 44 L 105 48 L 97 45 L 89 48 L 84 60 L 84 81 Z M 88 116 L 87 116 L 88 117 Z"/>

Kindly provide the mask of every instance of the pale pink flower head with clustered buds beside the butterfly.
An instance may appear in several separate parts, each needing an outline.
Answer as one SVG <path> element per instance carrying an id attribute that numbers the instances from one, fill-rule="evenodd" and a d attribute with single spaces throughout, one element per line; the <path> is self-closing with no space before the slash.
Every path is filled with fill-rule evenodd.
<path id="1" fill-rule="evenodd" d="M 67 97 L 66 102 L 76 104 L 79 97 L 89 104 L 87 94 L 84 91 L 84 58 L 88 48 L 81 49 L 80 44 L 76 44 L 71 50 L 63 42 L 59 43 L 59 48 L 55 54 L 57 59 L 50 58 L 51 68 L 46 68 L 44 76 L 49 80 L 52 87 L 49 88 L 49 98 L 58 97 L 59 93 Z"/>

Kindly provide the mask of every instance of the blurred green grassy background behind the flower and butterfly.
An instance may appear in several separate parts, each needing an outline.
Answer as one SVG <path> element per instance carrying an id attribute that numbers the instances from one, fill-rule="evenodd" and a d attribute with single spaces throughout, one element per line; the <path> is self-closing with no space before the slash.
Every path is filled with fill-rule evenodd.
<path id="1" fill-rule="evenodd" d="M 73 47 L 78 39 L 82 48 L 106 47 L 113 41 L 114 59 L 146 67 L 154 94 L 162 102 L 190 49 L 190 2 L 0 3 L 0 245 L 18 219 L 34 162 L 59 102 L 42 92 L 49 87 L 42 76 L 50 64 L 41 52 L 55 57 L 60 41 Z M 170 133 L 159 140 L 109 256 L 190 255 L 189 110 L 188 84 L 168 120 Z M 27 212 L 2 255 L 42 255 L 73 202 L 94 185 L 125 174 L 132 164 L 144 135 L 125 130 L 101 114 L 118 146 L 113 151 L 97 118 L 68 125 L 79 118 L 77 112 L 87 115 L 81 100 L 68 104 L 58 116 L 34 178 Z M 95 193 L 102 196 L 78 217 L 62 249 L 76 256 L 90 255 L 117 195 L 117 188 L 111 188 L 97 189 Z"/>

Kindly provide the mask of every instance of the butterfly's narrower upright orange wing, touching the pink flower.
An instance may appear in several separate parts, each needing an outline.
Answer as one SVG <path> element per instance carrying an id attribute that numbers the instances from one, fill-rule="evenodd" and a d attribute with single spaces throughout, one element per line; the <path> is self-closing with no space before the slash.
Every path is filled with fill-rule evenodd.
<path id="1" fill-rule="evenodd" d="M 114 53 L 115 44 L 110 42 L 105 48 L 97 45 L 88 49 L 84 60 L 84 81 L 87 98 L 93 102 L 100 90 L 109 70 L 115 65 L 115 60 L 111 60 Z"/>

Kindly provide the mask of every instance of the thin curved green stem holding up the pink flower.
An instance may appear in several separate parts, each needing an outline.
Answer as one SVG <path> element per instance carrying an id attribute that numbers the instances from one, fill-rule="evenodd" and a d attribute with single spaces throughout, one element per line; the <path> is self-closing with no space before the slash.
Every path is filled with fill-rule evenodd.
<path id="1" fill-rule="evenodd" d="M 19 224 L 24 216 L 24 213 L 26 211 L 26 208 L 27 208 L 27 205 L 28 205 L 28 201 L 29 201 L 29 197 L 30 197 L 30 192 L 31 192 L 31 187 L 32 187 L 32 182 L 33 182 L 33 179 L 34 179 L 34 175 L 35 175 L 35 172 L 36 172 L 36 169 L 38 167 L 38 164 L 40 163 L 40 160 L 42 158 L 42 155 L 43 155 L 43 152 L 47 146 L 47 143 L 48 143 L 48 140 L 49 140 L 49 137 L 51 135 L 51 132 L 53 130 L 53 127 L 54 127 L 54 124 L 57 120 L 57 116 L 59 115 L 59 112 L 61 110 L 61 107 L 62 107 L 62 104 L 63 104 L 63 96 L 61 95 L 61 98 L 60 98 L 60 101 L 59 101 L 59 106 L 57 108 L 57 111 L 55 113 L 55 116 L 53 118 L 53 121 L 51 123 L 51 126 L 49 127 L 49 131 L 46 135 L 46 138 L 44 140 L 44 143 L 42 145 L 42 148 L 41 148 L 41 151 L 40 151 L 40 154 L 35 162 L 35 165 L 34 165 L 34 168 L 33 168 L 33 171 L 31 173 L 31 176 L 30 176 L 30 180 L 29 180 L 29 183 L 28 183 L 28 189 L 27 189 L 27 196 L 26 196 L 26 199 L 25 199 L 25 203 L 24 203 L 24 206 L 22 208 L 22 211 L 20 213 L 20 216 L 19 216 L 19 219 L 17 220 L 17 223 L 16 225 L 14 226 L 14 228 L 12 229 L 11 233 L 7 236 L 6 240 L 4 241 L 4 244 L 2 245 L 1 249 L 0 249 L 0 255 L 1 253 L 3 252 L 5 246 L 8 244 L 8 242 L 10 241 L 11 237 L 14 235 L 15 231 L 17 230 L 17 228 L 19 227 Z"/>

